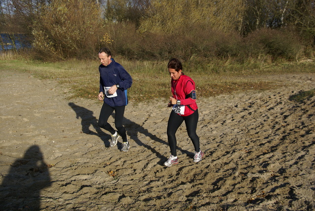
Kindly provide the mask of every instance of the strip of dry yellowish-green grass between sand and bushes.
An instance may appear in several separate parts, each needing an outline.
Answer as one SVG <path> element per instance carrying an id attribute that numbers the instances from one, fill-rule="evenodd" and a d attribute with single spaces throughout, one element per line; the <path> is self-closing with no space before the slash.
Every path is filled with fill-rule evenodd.
<path id="1" fill-rule="evenodd" d="M 132 76 L 133 84 L 128 89 L 129 100 L 144 101 L 171 96 L 168 61 L 130 61 L 117 57 Z M 69 60 L 42 63 L 23 58 L 0 60 L 0 70 L 19 70 L 32 73 L 41 79 L 58 79 L 61 85 L 71 90 L 70 98 L 96 99 L 99 91 L 99 61 Z M 249 61 L 237 64 L 233 61 L 186 61 L 185 74 L 196 83 L 199 97 L 210 97 L 246 90 L 267 90 L 279 86 L 275 81 L 266 81 L 261 75 L 292 72 L 315 72 L 315 63 L 264 64 Z"/>

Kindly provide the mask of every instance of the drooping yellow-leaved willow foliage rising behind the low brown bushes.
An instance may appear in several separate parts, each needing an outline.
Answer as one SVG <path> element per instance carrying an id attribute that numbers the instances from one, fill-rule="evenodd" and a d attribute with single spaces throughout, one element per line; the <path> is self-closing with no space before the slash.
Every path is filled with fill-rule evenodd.
<path id="1" fill-rule="evenodd" d="M 243 21 L 244 0 L 152 0 L 140 32 L 173 34 L 199 26 L 235 31 Z"/>

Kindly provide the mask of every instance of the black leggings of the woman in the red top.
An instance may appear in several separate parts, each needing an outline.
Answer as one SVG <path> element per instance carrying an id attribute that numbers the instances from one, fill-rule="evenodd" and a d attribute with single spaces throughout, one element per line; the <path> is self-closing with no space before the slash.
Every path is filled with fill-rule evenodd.
<path id="1" fill-rule="evenodd" d="M 173 156 L 177 156 L 176 153 L 177 142 L 175 134 L 179 126 L 181 126 L 181 124 L 183 123 L 183 121 L 185 121 L 187 133 L 192 141 L 195 151 L 199 152 L 200 150 L 199 137 L 196 134 L 198 118 L 199 118 L 198 109 L 189 116 L 180 116 L 177 113 L 175 113 L 174 110 L 172 110 L 167 124 L 167 139 L 169 147 L 171 149 L 171 154 Z"/>

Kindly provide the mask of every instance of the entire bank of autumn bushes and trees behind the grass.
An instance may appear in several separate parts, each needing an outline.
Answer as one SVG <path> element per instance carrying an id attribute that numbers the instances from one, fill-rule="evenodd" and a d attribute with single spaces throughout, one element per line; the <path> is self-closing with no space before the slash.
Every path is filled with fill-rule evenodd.
<path id="1" fill-rule="evenodd" d="M 41 0 L 30 1 L 30 8 L 18 6 L 24 0 L 11 1 L 15 3 L 6 1 L 6 10 L 0 8 L 0 26 L 14 26 L 10 18 L 17 17 L 32 22 L 28 31 L 35 57 L 42 60 L 95 58 L 102 46 L 114 55 L 140 60 L 314 58 L 315 16 L 309 3 L 300 14 L 301 5 L 293 1 L 278 5 L 271 0 L 254 5 L 249 0 Z M 256 14 L 255 9 L 265 12 Z"/>

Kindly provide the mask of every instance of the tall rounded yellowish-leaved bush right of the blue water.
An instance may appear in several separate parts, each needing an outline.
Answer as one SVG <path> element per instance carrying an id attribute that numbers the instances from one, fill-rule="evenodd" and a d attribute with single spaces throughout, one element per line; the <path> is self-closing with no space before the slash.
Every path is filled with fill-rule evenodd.
<path id="1" fill-rule="evenodd" d="M 33 49 L 43 60 L 95 55 L 101 35 L 100 10 L 90 0 L 54 0 L 35 22 Z"/>

